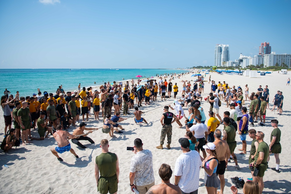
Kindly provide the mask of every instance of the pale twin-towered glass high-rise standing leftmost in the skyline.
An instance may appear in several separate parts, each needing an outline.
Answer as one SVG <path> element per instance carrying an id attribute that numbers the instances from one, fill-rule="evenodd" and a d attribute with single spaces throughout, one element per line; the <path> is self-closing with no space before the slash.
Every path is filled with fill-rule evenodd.
<path id="1" fill-rule="evenodd" d="M 229 61 L 228 45 L 216 45 L 214 50 L 214 66 L 221 66 L 224 62 L 227 61 Z"/>

